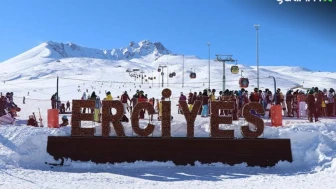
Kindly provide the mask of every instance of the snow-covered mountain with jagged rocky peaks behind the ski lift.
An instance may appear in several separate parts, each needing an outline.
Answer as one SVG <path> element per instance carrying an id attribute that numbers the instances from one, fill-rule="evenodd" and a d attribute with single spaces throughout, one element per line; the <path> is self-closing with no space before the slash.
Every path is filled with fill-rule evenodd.
<path id="1" fill-rule="evenodd" d="M 233 58 L 238 58 L 233 57 Z M 184 65 L 183 65 L 184 63 Z M 131 42 L 128 47 L 112 50 L 99 50 L 82 47 L 74 43 L 57 43 L 48 41 L 34 47 L 14 58 L 0 63 L 0 76 L 2 81 L 22 81 L 39 79 L 52 79 L 67 77 L 73 79 L 103 80 L 111 82 L 149 83 L 130 77 L 127 70 L 138 69 L 145 75 L 156 77 L 154 84 L 160 85 L 162 77 L 157 69 L 160 65 L 166 65 L 165 75 L 175 72 L 172 78 L 164 77 L 163 82 L 170 87 L 181 88 L 182 82 L 191 88 L 208 87 L 208 60 L 202 60 L 196 56 L 182 56 L 167 50 L 160 42 L 143 40 L 138 43 Z M 250 89 L 257 87 L 257 68 L 249 66 L 254 64 L 246 62 L 238 64 L 243 70 L 242 76 L 250 80 Z M 232 74 L 231 66 L 225 64 L 225 87 L 236 90 L 241 74 Z M 210 80 L 211 88 L 223 89 L 223 64 L 211 61 Z M 196 79 L 189 78 L 190 72 L 197 74 Z M 137 72 L 140 74 L 140 72 Z M 273 89 L 276 79 L 279 88 L 287 90 L 295 86 L 309 88 L 334 88 L 336 73 L 314 72 L 298 66 L 260 66 L 260 88 Z"/>

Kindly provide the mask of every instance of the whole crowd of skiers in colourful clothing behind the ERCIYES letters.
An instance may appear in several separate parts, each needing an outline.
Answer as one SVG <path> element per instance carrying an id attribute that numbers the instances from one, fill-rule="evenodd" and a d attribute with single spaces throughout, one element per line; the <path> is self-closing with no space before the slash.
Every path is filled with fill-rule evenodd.
<path id="1" fill-rule="evenodd" d="M 13 107 L 17 107 L 13 100 L 11 100 L 11 94 L 8 93 L 6 97 L 1 96 L 1 115 L 3 115 L 3 110 L 7 108 L 8 112 L 14 116 L 15 111 L 12 111 Z M 81 97 L 82 100 L 94 100 L 95 107 L 90 108 L 90 113 L 94 113 L 94 121 L 101 122 L 101 106 L 102 101 L 100 97 L 96 95 L 93 91 L 91 94 L 87 94 L 83 92 Z M 124 91 L 123 94 L 117 97 L 123 104 L 123 113 L 124 117 L 121 121 L 128 122 L 127 114 L 132 112 L 132 108 L 139 102 L 149 102 L 153 105 L 155 112 L 158 114 L 158 120 L 161 120 L 162 117 L 162 101 L 166 99 L 161 97 L 161 99 L 148 98 L 147 94 L 142 90 L 136 90 L 136 93 L 133 96 L 129 96 L 127 91 Z M 106 92 L 106 96 L 103 100 L 113 100 L 110 91 Z M 196 100 L 201 101 L 201 108 L 198 111 L 198 115 L 201 117 L 209 117 L 210 115 L 210 106 L 213 101 L 231 101 L 234 102 L 233 110 L 220 110 L 220 115 L 232 115 L 234 120 L 237 120 L 239 117 L 242 117 L 242 108 L 245 104 L 250 102 L 258 102 L 262 105 L 265 110 L 264 114 L 256 114 L 261 117 L 270 117 L 269 113 L 271 106 L 280 105 L 283 110 L 283 115 L 287 117 L 306 117 L 310 122 L 319 121 L 319 117 L 332 117 L 336 114 L 336 94 L 333 88 L 329 90 L 323 89 L 319 90 L 317 87 L 313 87 L 306 91 L 303 90 L 288 90 L 285 94 L 278 88 L 275 94 L 269 89 L 265 89 L 264 91 L 259 90 L 258 88 L 254 88 L 250 93 L 242 88 L 240 90 L 229 90 L 219 91 L 218 95 L 215 89 L 204 89 L 203 92 L 190 92 L 188 96 L 185 96 L 183 92 L 180 93 L 179 101 L 186 101 L 191 111 L 193 108 L 193 104 Z M 59 104 L 60 113 L 64 113 L 66 110 L 70 111 L 70 102 L 67 101 L 66 107 L 65 104 L 60 103 L 59 97 L 57 102 L 57 93 L 55 93 L 51 98 L 52 108 L 57 108 L 56 104 Z M 14 108 L 15 109 L 15 108 Z M 17 110 L 17 109 L 16 109 Z M 82 109 L 83 113 L 86 113 L 87 108 Z M 112 114 L 112 109 L 110 110 Z M 178 113 L 183 114 L 181 107 L 178 105 Z M 63 125 L 67 125 L 68 120 L 65 117 L 62 122 Z M 139 119 L 145 118 L 145 110 L 140 111 Z M 151 115 L 150 119 L 153 119 L 153 115 Z"/>

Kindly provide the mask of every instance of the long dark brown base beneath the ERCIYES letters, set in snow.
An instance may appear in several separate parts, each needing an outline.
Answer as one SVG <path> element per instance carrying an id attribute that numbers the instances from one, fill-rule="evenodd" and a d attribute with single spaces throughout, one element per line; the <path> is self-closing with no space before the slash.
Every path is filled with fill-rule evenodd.
<path id="1" fill-rule="evenodd" d="M 96 163 L 172 161 L 176 165 L 246 162 L 274 166 L 292 162 L 289 139 L 142 138 L 49 136 L 47 152 L 58 158 Z"/>

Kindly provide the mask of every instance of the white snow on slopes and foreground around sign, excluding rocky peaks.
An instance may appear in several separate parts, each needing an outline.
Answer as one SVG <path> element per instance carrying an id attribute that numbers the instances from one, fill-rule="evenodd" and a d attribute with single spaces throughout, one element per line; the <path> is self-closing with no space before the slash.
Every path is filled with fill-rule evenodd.
<path id="1" fill-rule="evenodd" d="M 67 52 L 68 55 L 70 53 Z M 285 118 L 282 127 L 266 126 L 263 137 L 290 138 L 293 153 L 292 163 L 279 162 L 271 168 L 219 163 L 175 166 L 172 162 L 139 161 L 97 165 L 92 162 L 67 161 L 65 164 L 69 166 L 51 169 L 44 164 L 45 161 L 54 161 L 46 152 L 47 136 L 70 135 L 71 127 L 34 128 L 25 124 L 32 112 L 38 116 L 40 108 L 46 125 L 47 109 L 51 106 L 50 97 L 56 92 L 56 76 L 60 77 L 59 95 L 63 102 L 80 99 L 86 89 L 89 93 L 95 91 L 101 98 L 104 98 L 105 90 L 111 91 L 116 98 L 125 90 L 133 95 L 136 89 L 144 90 L 148 97 L 160 98 L 161 90 L 167 87 L 167 78 L 164 78 L 164 87 L 159 87 L 162 78 L 157 67 L 159 64 L 168 65 L 169 72 L 175 71 L 177 74 L 176 77 L 169 78 L 168 83 L 168 88 L 173 91 L 173 137 L 186 135 L 185 119 L 177 114 L 175 106 L 180 92 L 199 92 L 208 86 L 208 61 L 193 56 L 185 56 L 183 88 L 183 59 L 179 55 L 164 55 L 157 59 L 156 53 L 155 56 L 149 54 L 139 59 L 125 60 L 97 58 L 94 53 L 92 56 L 90 54 L 91 58 L 68 57 L 71 58 L 60 58 L 52 49 L 38 47 L 0 64 L 0 74 L 5 80 L 0 85 L 0 91 L 3 94 L 14 92 L 14 102 L 22 108 L 15 126 L 0 126 L 0 188 L 335 188 L 335 118 L 321 118 L 318 123 L 308 123 L 306 118 Z M 239 87 L 240 75 L 230 73 L 231 65 L 226 65 L 226 87 L 235 90 Z M 239 64 L 239 67 L 244 70 L 243 75 L 250 78 L 247 90 L 252 91 L 256 86 L 256 68 L 243 64 Z M 128 68 L 143 69 L 147 77 L 153 74 L 157 79 L 153 84 L 145 80 L 141 84 L 141 80 L 135 80 L 126 73 Z M 191 68 L 197 73 L 194 80 L 188 75 Z M 335 73 L 312 72 L 300 67 L 263 66 L 260 75 L 262 89 L 273 90 L 273 80 L 268 76 L 274 76 L 277 87 L 283 92 L 296 85 L 303 85 L 303 88 L 335 88 L 336 81 Z M 222 64 L 212 61 L 211 88 L 215 88 L 217 92 L 222 90 L 221 78 Z M 22 104 L 23 96 L 26 97 L 26 104 Z M 69 118 L 71 119 L 71 115 Z M 266 125 L 270 124 L 268 119 L 265 122 Z M 141 126 L 147 123 L 148 120 L 140 121 Z M 239 126 L 243 123 L 244 120 L 240 119 L 232 125 L 221 127 L 234 129 L 235 136 L 240 138 Z M 160 136 L 160 122 L 154 120 L 153 124 L 156 125 L 153 136 Z M 96 134 L 100 134 L 97 123 L 84 122 L 83 125 L 96 127 Z M 128 136 L 136 137 L 132 135 L 130 123 L 123 125 Z M 209 118 L 196 118 L 195 136 L 209 136 Z"/>

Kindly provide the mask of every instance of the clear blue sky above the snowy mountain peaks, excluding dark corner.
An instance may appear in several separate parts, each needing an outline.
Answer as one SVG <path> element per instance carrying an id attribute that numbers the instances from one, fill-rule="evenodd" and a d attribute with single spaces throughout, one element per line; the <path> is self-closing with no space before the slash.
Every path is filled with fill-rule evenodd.
<path id="1" fill-rule="evenodd" d="M 274 6 L 281 9 L 276 0 Z M 260 24 L 261 66 L 336 71 L 335 41 L 311 31 L 309 22 L 244 0 L 2 0 L 0 62 L 49 40 L 112 49 L 148 39 L 205 59 L 210 42 L 212 59 L 232 54 L 238 63 L 256 65 L 253 25 Z"/>

